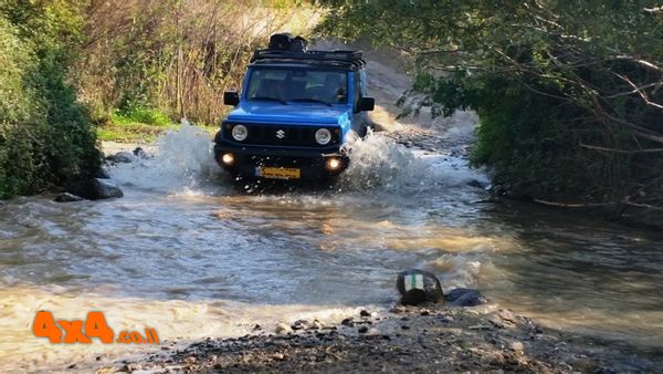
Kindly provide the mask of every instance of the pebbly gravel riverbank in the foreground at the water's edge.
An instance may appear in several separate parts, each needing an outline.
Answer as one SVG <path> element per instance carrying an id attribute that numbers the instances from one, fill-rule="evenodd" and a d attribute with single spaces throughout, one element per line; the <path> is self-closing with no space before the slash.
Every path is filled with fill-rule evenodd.
<path id="1" fill-rule="evenodd" d="M 143 359 L 97 367 L 97 373 L 179 372 L 524 372 L 654 371 L 663 362 L 635 356 L 625 345 L 588 341 L 537 325 L 495 305 L 394 307 L 362 311 L 340 324 L 315 321 L 255 326 L 239 339 L 206 339 L 164 347 Z M 264 331 L 263 329 L 267 330 Z M 659 359 L 660 360 L 660 359 Z"/>

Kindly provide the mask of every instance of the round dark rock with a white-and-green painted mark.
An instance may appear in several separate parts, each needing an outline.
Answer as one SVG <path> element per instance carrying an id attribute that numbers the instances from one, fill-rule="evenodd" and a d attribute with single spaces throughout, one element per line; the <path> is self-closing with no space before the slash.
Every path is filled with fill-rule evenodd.
<path id="1" fill-rule="evenodd" d="M 406 270 L 398 274 L 396 287 L 406 305 L 438 302 L 442 299 L 442 287 L 435 274 L 424 270 Z"/>

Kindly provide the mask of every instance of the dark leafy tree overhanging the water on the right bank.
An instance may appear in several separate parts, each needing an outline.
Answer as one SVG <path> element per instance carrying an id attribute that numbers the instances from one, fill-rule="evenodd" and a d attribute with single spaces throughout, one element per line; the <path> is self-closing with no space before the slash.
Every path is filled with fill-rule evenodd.
<path id="1" fill-rule="evenodd" d="M 478 113 L 474 160 L 498 183 L 538 198 L 663 205 L 655 1 L 320 3 L 325 34 L 412 56 L 414 111 Z"/>

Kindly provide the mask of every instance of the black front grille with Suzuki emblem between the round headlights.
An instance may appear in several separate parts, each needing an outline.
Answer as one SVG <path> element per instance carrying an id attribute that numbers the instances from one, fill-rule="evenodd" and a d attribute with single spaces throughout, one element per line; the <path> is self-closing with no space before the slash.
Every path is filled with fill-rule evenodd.
<path id="1" fill-rule="evenodd" d="M 232 138 L 232 126 L 227 127 L 225 137 Z M 294 147 L 320 147 L 315 141 L 315 132 L 319 128 L 327 128 L 332 132 L 332 142 L 325 146 L 338 144 L 340 129 L 330 126 L 292 126 L 292 125 L 254 125 L 244 124 L 249 128 L 249 137 L 242 144 L 252 145 L 277 145 Z"/>

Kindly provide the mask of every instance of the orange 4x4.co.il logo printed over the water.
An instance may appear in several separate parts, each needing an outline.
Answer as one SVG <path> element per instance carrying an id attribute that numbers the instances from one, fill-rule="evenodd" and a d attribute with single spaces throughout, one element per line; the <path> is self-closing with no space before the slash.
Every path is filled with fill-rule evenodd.
<path id="1" fill-rule="evenodd" d="M 60 328 L 59 328 L 60 326 Z M 138 331 L 120 331 L 115 340 L 113 329 L 106 323 L 103 312 L 88 312 L 85 322 L 82 320 L 66 321 L 53 319 L 53 313 L 36 312 L 32 324 L 34 336 L 48 337 L 51 343 L 92 343 L 92 337 L 98 337 L 104 344 L 159 344 L 159 336 L 155 329 L 145 328 L 145 335 Z"/>

